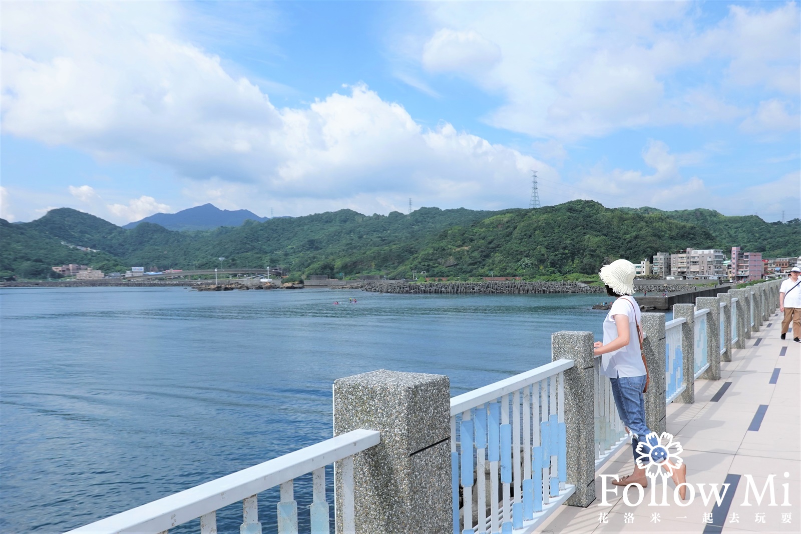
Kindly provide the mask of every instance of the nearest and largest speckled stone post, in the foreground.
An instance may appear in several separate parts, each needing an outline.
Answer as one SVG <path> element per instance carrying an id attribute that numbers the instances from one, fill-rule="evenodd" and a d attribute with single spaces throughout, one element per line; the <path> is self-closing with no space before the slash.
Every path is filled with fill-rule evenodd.
<path id="1" fill-rule="evenodd" d="M 448 377 L 382 369 L 334 381 L 334 435 L 357 428 L 381 443 L 353 457 L 356 532 L 451 532 Z M 338 466 L 334 484 L 341 502 Z"/>

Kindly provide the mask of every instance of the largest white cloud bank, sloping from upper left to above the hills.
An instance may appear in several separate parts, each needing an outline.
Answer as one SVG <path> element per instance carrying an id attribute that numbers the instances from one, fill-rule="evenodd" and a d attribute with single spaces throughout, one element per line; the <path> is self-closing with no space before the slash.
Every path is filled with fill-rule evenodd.
<path id="1" fill-rule="evenodd" d="M 423 127 L 364 84 L 276 108 L 177 33 L 179 6 L 139 6 L 4 6 L 13 31 L 2 35 L 3 131 L 163 164 L 193 181 L 193 198 L 222 191 L 219 203 L 334 207 L 372 195 L 402 207 L 411 195 L 423 205 L 509 207 L 527 203 L 531 168 L 557 179 L 545 163 L 449 123 Z M 133 220 L 164 205 L 142 197 L 109 209 Z"/>

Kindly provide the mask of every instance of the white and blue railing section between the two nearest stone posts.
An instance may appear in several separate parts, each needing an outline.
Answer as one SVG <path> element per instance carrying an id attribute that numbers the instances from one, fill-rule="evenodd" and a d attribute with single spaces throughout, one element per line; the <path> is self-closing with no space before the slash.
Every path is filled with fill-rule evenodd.
<path id="1" fill-rule="evenodd" d="M 560 359 L 451 399 L 454 534 L 533 532 L 573 495 L 564 406 L 573 366 Z"/>

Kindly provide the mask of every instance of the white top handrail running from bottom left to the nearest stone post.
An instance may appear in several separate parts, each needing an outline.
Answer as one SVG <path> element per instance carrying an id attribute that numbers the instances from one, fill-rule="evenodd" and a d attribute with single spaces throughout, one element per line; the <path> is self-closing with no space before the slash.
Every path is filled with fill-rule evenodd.
<path id="1" fill-rule="evenodd" d="M 75 528 L 66 534 L 164 532 L 229 504 L 353 456 L 380 443 L 380 432 L 354 430 L 183 492 Z"/>

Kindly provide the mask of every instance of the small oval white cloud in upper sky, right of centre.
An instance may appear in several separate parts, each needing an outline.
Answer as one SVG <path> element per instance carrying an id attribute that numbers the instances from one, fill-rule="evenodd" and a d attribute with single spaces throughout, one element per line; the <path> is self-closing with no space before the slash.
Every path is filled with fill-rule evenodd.
<path id="1" fill-rule="evenodd" d="M 443 28 L 423 46 L 423 66 L 432 72 L 481 74 L 500 61 L 501 47 L 474 30 Z"/>

